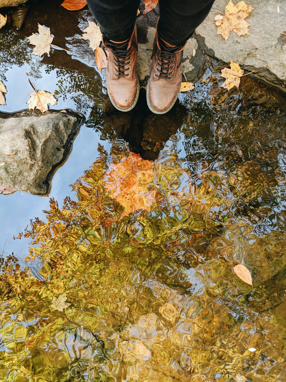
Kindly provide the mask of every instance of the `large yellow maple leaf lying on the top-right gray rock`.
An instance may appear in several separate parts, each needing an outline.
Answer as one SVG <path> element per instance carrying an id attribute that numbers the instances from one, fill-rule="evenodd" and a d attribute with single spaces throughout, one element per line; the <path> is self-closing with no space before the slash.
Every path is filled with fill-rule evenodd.
<path id="1" fill-rule="evenodd" d="M 225 7 L 225 14 L 215 16 L 215 25 L 218 26 L 217 34 L 221 34 L 225 41 L 230 37 L 230 32 L 235 32 L 238 37 L 248 33 L 249 24 L 244 20 L 252 11 L 252 6 L 240 1 L 236 5 L 232 0 Z"/>

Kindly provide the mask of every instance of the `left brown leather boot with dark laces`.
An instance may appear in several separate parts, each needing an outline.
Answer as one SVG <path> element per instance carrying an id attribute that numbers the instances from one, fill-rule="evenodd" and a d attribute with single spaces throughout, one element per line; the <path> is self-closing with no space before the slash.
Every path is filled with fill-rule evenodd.
<path id="1" fill-rule="evenodd" d="M 106 86 L 112 105 L 121 112 L 135 107 L 140 83 L 136 71 L 137 31 L 136 26 L 129 40 L 113 42 L 103 37 L 104 48 L 109 49 L 106 68 Z"/>

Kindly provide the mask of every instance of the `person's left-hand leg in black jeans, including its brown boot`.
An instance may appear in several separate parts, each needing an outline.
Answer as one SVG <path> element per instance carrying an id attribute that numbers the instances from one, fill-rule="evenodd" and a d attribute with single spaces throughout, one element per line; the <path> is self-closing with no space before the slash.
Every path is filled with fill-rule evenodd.
<path id="1" fill-rule="evenodd" d="M 140 83 L 136 71 L 135 20 L 140 0 L 87 0 L 109 50 L 106 87 L 112 105 L 122 112 L 135 107 Z"/>

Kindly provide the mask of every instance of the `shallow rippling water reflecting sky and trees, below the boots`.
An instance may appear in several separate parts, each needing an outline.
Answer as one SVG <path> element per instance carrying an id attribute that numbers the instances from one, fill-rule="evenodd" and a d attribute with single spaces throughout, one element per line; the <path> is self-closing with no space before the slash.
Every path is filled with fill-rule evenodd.
<path id="1" fill-rule="evenodd" d="M 35 62 L 7 68 L 11 91 Z M 130 117 L 99 110 L 92 68 L 36 72 L 87 121 L 50 205 L 0 195 L 4 252 L 32 260 L 2 259 L 0 380 L 284 382 L 284 97 L 207 71 L 172 113 L 148 113 L 143 92 Z"/>

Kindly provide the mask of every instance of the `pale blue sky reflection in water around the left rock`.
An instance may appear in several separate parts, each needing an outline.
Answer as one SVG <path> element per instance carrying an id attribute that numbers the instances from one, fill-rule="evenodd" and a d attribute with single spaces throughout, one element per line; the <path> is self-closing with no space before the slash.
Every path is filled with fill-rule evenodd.
<path id="1" fill-rule="evenodd" d="M 7 105 L 1 105 L 0 112 L 14 112 L 27 108 L 28 94 L 34 92 L 25 75 L 27 72 L 37 89 L 59 93 L 57 95 L 58 103 L 53 108 L 57 110 L 65 108 L 80 109 L 80 112 L 84 112 L 85 117 L 88 118 L 97 94 L 92 94 L 89 89 L 86 89 L 89 86 L 89 76 L 86 73 L 78 74 L 66 71 L 65 76 L 64 69 L 51 69 L 50 65 L 40 62 L 34 62 L 35 66 L 37 66 L 37 71 L 34 71 L 32 64 L 33 62 L 24 63 L 21 67 L 11 65 L 12 67 L 5 71 L 5 84 L 8 90 L 6 94 Z M 49 71 L 49 73 L 45 73 L 46 71 Z M 33 72 L 36 73 L 35 76 L 33 76 Z M 95 87 L 95 91 L 98 92 L 100 88 L 96 83 L 96 79 L 94 79 L 95 72 L 92 70 L 92 73 L 88 74 L 90 78 L 93 78 L 90 86 Z M 85 79 L 85 82 L 83 81 L 82 91 L 81 89 L 76 91 L 76 87 L 79 87 L 77 82 L 81 81 L 80 76 L 85 76 L 87 79 Z M 85 93 L 88 95 L 85 95 Z M 49 196 L 34 196 L 27 193 L 21 195 L 19 191 L 12 195 L 0 195 L 0 229 L 2 233 L 0 253 L 4 249 L 4 253 L 13 251 L 16 256 L 22 255 L 22 258 L 26 256 L 29 241 L 26 239 L 13 240 L 13 236 L 17 236 L 19 232 L 23 231 L 30 219 L 35 217 L 44 218 L 42 210 L 49 209 L 50 197 L 54 197 L 61 206 L 64 197 L 71 194 L 69 185 L 74 183 L 96 159 L 98 142 L 100 141 L 99 136 L 100 133 L 87 128 L 85 125 L 80 128 L 71 155 L 53 176 Z M 101 144 L 108 146 L 109 142 L 101 141 Z M 108 147 L 106 148 L 108 149 Z"/>

